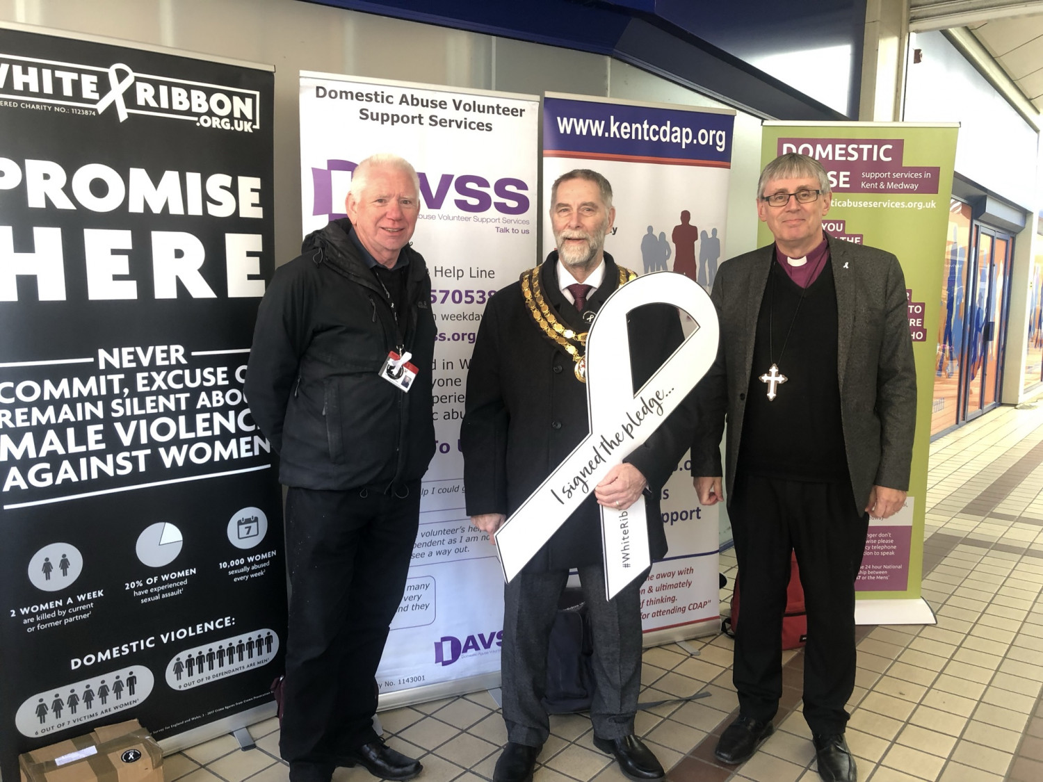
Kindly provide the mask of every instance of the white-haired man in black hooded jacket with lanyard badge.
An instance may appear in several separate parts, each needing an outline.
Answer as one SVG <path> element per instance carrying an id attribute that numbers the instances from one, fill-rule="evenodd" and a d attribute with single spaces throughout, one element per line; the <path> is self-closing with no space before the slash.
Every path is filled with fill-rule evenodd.
<path id="1" fill-rule="evenodd" d="M 338 765 L 393 780 L 420 772 L 372 728 L 373 676 L 435 451 L 431 278 L 409 246 L 416 172 L 394 155 L 366 158 L 346 209 L 276 269 L 246 374 L 250 411 L 289 487 L 280 750 L 292 782 L 329 782 Z"/>

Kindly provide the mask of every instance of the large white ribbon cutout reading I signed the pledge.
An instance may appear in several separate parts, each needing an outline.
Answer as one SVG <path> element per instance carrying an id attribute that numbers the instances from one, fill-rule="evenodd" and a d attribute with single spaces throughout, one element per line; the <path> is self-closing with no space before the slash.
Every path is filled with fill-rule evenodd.
<path id="1" fill-rule="evenodd" d="M 649 381 L 632 393 L 627 314 L 652 303 L 688 314 L 695 329 Z M 640 446 L 706 374 L 720 328 L 710 297 L 682 274 L 646 274 L 608 297 L 586 347 L 589 432 L 495 534 L 507 581 L 513 579 L 579 508 L 608 471 Z M 645 497 L 618 511 L 601 508 L 608 600 L 650 564 Z"/>

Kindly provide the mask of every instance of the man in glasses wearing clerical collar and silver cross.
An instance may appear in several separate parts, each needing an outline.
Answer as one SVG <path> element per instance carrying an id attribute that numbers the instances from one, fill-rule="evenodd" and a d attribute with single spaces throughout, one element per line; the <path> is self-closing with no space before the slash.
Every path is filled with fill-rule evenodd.
<path id="1" fill-rule="evenodd" d="M 718 359 L 697 389 L 692 471 L 703 505 L 724 498 L 743 596 L 733 681 L 739 715 L 715 755 L 742 763 L 773 731 L 781 625 L 796 552 L 807 610 L 804 718 L 819 775 L 854 780 L 844 738 L 855 675 L 854 582 L 869 517 L 905 503 L 916 369 L 898 259 L 825 234 L 829 178 L 784 154 L 757 184 L 775 242 L 723 264 L 711 298 Z"/>

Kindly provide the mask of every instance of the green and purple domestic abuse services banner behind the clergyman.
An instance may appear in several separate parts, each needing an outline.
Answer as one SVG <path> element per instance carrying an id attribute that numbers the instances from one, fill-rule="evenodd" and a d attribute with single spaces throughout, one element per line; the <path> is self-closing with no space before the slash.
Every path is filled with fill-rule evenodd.
<path id="1" fill-rule="evenodd" d="M 916 441 L 905 506 L 870 519 L 855 588 L 862 598 L 918 598 L 923 568 L 930 408 L 939 291 L 956 154 L 956 125 L 814 123 L 763 127 L 761 165 L 785 152 L 819 161 L 832 205 L 823 221 L 838 239 L 893 252 L 905 275 L 917 368 Z M 759 244 L 773 241 L 761 224 Z"/>

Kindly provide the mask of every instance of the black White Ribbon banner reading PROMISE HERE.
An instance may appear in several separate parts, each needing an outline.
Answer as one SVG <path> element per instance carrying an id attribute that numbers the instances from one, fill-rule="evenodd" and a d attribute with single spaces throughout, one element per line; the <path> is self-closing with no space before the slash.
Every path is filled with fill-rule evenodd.
<path id="1" fill-rule="evenodd" d="M 270 699 L 272 74 L 0 29 L 0 762 Z"/>

